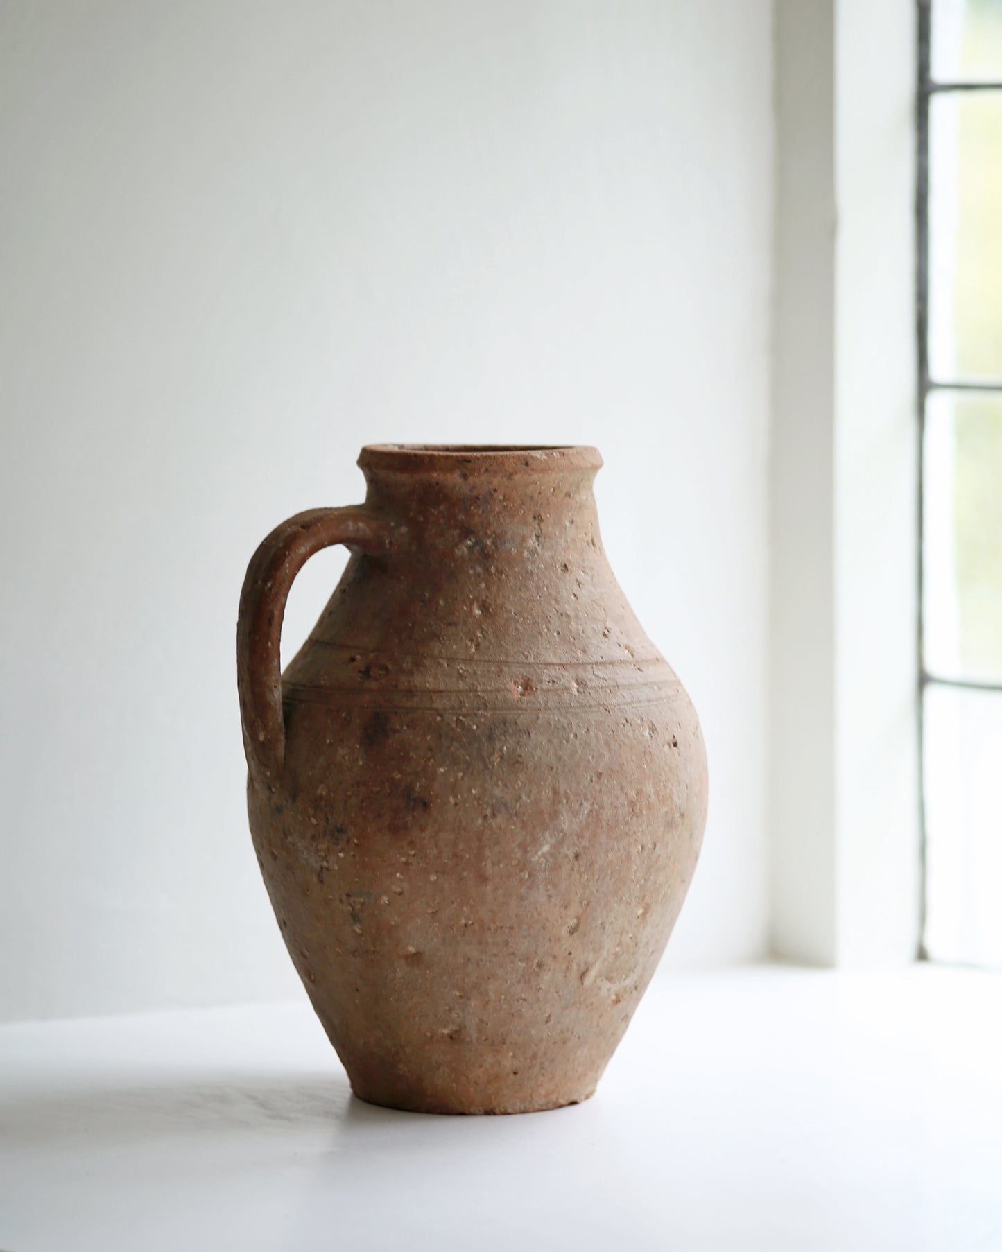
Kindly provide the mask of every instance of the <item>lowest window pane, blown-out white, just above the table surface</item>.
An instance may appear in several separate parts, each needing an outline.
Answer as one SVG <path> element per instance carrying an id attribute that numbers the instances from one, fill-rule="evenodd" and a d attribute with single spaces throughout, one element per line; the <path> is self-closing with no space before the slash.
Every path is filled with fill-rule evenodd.
<path id="1" fill-rule="evenodd" d="M 924 734 L 926 947 L 1002 967 L 1002 695 L 932 685 Z"/>

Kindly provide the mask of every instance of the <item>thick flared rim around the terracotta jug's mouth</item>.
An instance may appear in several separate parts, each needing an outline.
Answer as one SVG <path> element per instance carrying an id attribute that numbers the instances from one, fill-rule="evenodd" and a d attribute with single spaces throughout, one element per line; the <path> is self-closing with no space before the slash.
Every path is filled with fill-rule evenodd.
<path id="1" fill-rule="evenodd" d="M 481 473 L 525 470 L 597 470 L 597 448 L 576 443 L 368 443 L 358 464 L 396 472 L 475 468 Z"/>

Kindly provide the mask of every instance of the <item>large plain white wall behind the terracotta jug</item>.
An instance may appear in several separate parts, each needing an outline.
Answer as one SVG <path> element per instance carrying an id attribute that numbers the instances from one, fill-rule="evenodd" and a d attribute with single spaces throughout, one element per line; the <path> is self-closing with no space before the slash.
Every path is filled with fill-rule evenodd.
<path id="1" fill-rule="evenodd" d="M 237 597 L 373 441 L 601 448 L 710 757 L 669 959 L 764 950 L 770 39 L 767 0 L 0 6 L 0 1015 L 297 994 Z"/>

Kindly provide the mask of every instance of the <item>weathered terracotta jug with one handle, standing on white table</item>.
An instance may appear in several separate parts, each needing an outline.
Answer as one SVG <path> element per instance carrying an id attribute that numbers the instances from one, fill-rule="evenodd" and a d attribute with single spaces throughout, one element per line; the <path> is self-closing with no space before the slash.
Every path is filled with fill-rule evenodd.
<path id="1" fill-rule="evenodd" d="M 240 597 L 250 830 L 282 935 L 362 1099 L 586 1099 L 695 868 L 695 711 L 605 558 L 595 448 L 358 464 L 364 505 L 284 522 Z M 351 560 L 281 675 L 289 586 L 331 543 Z"/>

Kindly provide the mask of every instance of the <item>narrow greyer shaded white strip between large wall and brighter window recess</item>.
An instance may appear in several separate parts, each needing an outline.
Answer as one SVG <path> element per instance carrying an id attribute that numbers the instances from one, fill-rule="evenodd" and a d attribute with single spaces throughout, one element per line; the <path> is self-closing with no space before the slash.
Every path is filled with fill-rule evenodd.
<path id="1" fill-rule="evenodd" d="M 835 949 L 835 0 L 777 0 L 770 940 Z"/>

